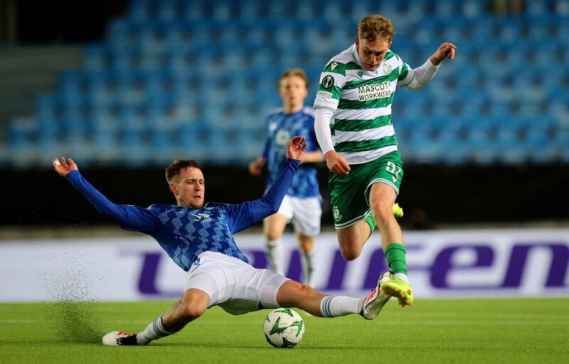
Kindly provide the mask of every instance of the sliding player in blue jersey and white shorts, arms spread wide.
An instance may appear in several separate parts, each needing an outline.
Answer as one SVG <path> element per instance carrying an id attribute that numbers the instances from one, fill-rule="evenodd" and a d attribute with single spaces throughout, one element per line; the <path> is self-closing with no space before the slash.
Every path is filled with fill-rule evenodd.
<path id="1" fill-rule="evenodd" d="M 277 212 L 306 147 L 304 137 L 292 137 L 287 160 L 267 193 L 241 204 L 204 204 L 205 179 L 196 160 L 176 160 L 166 168 L 176 205 L 142 208 L 110 202 L 83 178 L 73 160 L 53 158 L 55 172 L 73 184 L 100 213 L 117 220 L 122 229 L 154 237 L 187 272 L 180 301 L 144 331 L 111 331 L 103 336 L 102 343 L 147 345 L 180 331 L 211 306 L 220 306 L 233 315 L 263 308 L 297 307 L 321 317 L 358 313 L 368 320 L 376 318 L 390 298 L 381 289 L 390 272 L 378 279 L 367 297 L 328 296 L 275 272 L 254 268 L 235 244 L 233 234 Z"/>

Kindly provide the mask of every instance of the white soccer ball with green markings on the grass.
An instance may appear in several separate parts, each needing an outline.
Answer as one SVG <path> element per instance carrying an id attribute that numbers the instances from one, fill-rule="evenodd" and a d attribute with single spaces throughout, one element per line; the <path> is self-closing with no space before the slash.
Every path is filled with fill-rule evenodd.
<path id="1" fill-rule="evenodd" d="M 294 348 L 304 336 L 304 320 L 290 308 L 277 308 L 265 318 L 263 331 L 275 348 Z"/>

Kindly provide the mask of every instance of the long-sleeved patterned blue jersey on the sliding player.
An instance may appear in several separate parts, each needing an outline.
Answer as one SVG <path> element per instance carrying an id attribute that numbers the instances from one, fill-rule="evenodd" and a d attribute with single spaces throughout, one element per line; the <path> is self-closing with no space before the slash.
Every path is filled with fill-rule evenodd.
<path id="1" fill-rule="evenodd" d="M 116 219 L 123 229 L 154 237 L 170 258 L 188 271 L 204 251 L 216 251 L 249 263 L 235 244 L 233 234 L 278 211 L 298 165 L 298 160 L 287 160 L 275 183 L 260 199 L 242 204 L 209 203 L 201 209 L 172 204 L 153 204 L 147 209 L 113 204 L 78 170 L 66 178 L 99 212 Z"/>

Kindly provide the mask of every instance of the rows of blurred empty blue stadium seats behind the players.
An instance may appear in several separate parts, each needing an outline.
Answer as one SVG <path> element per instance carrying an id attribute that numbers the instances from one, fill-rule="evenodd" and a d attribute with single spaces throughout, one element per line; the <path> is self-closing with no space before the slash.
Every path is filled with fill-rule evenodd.
<path id="1" fill-rule="evenodd" d="M 280 105 L 283 68 L 307 71 L 311 105 L 324 64 L 373 13 L 393 19 L 392 48 L 412 67 L 441 41 L 459 47 L 419 93 L 398 90 L 405 162 L 569 162 L 566 0 L 509 16 L 478 0 L 132 0 L 105 41 L 85 47 L 83 68 L 38 95 L 33 120 L 11 123 L 9 147 L 28 147 L 29 162 L 64 145 L 92 162 L 244 164 Z"/>

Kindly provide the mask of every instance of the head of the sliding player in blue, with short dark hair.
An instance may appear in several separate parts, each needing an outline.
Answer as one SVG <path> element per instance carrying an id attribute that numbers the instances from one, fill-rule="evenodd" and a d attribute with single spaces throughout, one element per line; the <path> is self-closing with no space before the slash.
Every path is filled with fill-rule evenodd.
<path id="1" fill-rule="evenodd" d="M 203 207 L 206 184 L 201 170 L 194 167 L 181 170 L 174 180 L 174 187 L 172 192 L 176 195 L 176 200 L 180 206 L 190 209 L 201 209 Z"/>

